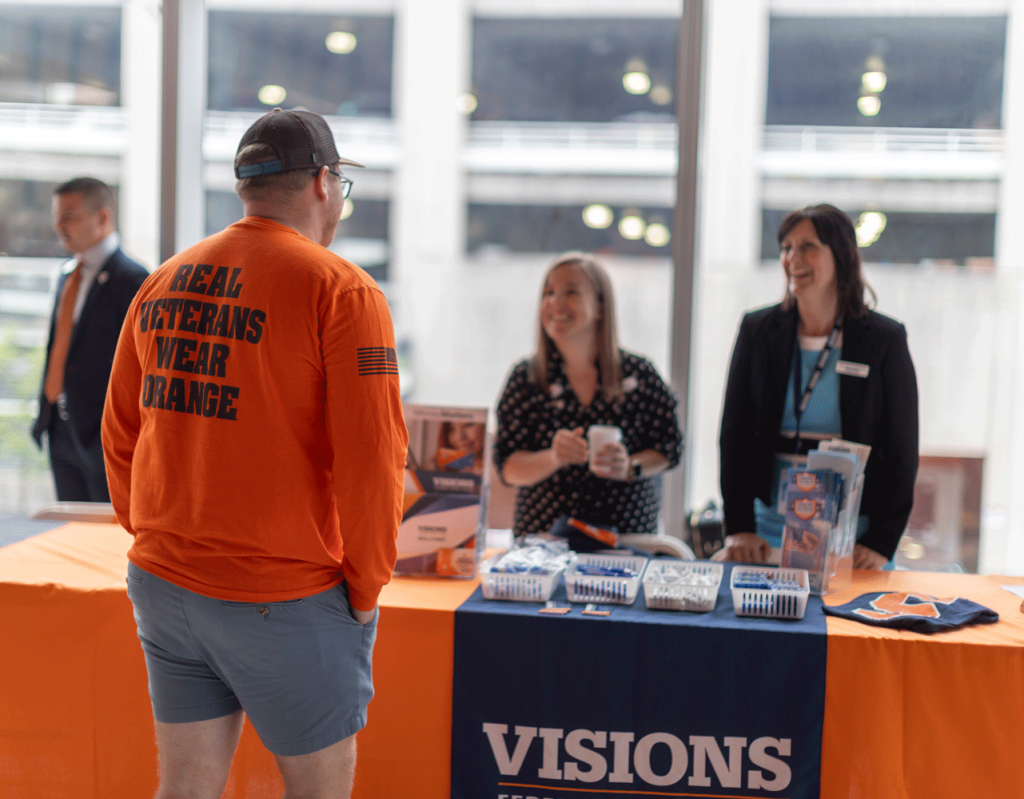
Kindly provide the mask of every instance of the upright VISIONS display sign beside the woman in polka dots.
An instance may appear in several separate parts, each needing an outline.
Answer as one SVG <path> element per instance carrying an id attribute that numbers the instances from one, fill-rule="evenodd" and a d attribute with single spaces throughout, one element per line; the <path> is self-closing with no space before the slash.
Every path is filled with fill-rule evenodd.
<path id="1" fill-rule="evenodd" d="M 409 457 L 395 574 L 473 577 L 486 532 L 487 409 L 403 410 Z"/>

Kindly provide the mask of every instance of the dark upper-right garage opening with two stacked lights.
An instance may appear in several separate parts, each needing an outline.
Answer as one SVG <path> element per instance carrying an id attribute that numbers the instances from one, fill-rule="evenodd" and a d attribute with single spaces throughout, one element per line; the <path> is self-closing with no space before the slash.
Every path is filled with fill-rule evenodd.
<path id="1" fill-rule="evenodd" d="M 998 128 L 1005 16 L 773 17 L 769 125 Z"/>

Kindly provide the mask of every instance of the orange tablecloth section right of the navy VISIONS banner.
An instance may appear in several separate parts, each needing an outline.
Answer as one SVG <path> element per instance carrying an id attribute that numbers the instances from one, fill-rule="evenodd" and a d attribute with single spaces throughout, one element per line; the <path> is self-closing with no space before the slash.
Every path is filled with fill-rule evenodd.
<path id="1" fill-rule="evenodd" d="M 1001 585 L 1024 579 L 855 572 L 827 597 L 962 596 L 999 621 L 928 636 L 828 617 L 822 799 L 1024 796 L 1024 614 Z"/>

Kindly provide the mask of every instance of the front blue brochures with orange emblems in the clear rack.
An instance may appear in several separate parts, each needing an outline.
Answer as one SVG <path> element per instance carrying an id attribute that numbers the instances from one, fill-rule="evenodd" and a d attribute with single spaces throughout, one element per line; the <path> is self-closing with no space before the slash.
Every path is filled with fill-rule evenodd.
<path id="1" fill-rule="evenodd" d="M 844 482 L 843 475 L 831 469 L 786 470 L 780 564 L 806 570 L 813 593 L 827 587 L 831 567 L 828 552 L 840 535 L 836 522 Z"/>

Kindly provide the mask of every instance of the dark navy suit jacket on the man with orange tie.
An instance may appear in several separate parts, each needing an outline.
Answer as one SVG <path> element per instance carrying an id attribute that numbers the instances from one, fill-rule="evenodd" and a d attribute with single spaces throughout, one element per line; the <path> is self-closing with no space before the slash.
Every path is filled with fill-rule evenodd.
<path id="1" fill-rule="evenodd" d="M 68 401 L 69 422 L 79 443 L 86 449 L 99 439 L 99 421 L 103 415 L 106 383 L 111 377 L 121 325 L 135 292 L 148 275 L 145 268 L 125 255 L 120 248 L 115 250 L 96 272 L 82 306 L 82 313 L 72 330 L 65 365 L 63 390 Z M 60 289 L 67 279 L 67 275 L 61 276 L 57 283 L 53 313 L 50 316 L 46 366 L 43 367 L 44 383 L 53 348 L 56 307 Z M 43 431 L 49 428 L 53 413 L 54 409 L 40 386 L 39 417 L 32 428 L 32 437 L 40 447 Z"/>

